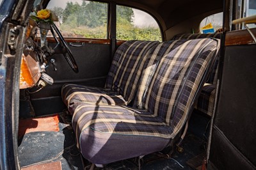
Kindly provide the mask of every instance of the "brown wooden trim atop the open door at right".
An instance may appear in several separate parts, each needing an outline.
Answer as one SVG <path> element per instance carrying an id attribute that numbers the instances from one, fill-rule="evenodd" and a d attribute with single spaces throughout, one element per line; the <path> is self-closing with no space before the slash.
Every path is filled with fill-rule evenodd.
<path id="1" fill-rule="evenodd" d="M 256 36 L 256 28 L 252 28 L 250 29 L 250 31 L 252 31 L 253 35 Z M 246 45 L 251 43 L 256 43 L 256 42 L 254 42 L 252 36 L 246 29 L 230 31 L 226 33 L 225 46 Z"/>

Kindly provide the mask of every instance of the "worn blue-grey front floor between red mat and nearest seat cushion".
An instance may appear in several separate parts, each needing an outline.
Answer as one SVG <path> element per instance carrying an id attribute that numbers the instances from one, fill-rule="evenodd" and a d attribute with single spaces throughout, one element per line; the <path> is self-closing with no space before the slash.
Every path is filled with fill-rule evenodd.
<path id="1" fill-rule="evenodd" d="M 83 161 L 76 147 L 76 138 L 70 122 L 62 118 L 63 114 L 58 116 L 58 132 L 29 132 L 19 139 L 20 167 L 60 161 L 62 169 L 83 169 Z"/>

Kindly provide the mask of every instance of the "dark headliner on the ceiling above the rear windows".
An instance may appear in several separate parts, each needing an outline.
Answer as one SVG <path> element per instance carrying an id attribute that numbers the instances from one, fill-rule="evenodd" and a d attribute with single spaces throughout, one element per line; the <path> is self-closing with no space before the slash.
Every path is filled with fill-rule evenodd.
<path id="1" fill-rule="evenodd" d="M 108 0 L 107 0 L 108 1 Z M 204 13 L 221 12 L 223 1 L 205 0 L 112 0 L 117 4 L 125 4 L 134 8 L 140 8 L 160 20 L 164 29 L 168 29 L 175 24 L 202 15 Z"/>

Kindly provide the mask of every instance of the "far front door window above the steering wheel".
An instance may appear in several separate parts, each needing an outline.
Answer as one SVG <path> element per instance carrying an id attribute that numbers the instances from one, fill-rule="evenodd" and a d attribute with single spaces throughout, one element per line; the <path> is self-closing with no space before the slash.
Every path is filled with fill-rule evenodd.
<path id="1" fill-rule="evenodd" d="M 52 0 L 47 8 L 58 16 L 56 26 L 64 37 L 107 38 L 107 3 Z"/>

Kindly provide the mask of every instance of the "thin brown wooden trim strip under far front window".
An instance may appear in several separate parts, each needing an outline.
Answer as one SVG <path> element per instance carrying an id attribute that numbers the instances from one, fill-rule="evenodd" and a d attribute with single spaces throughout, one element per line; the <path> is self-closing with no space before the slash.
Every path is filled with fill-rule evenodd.
<path id="1" fill-rule="evenodd" d="M 47 37 L 48 42 L 55 42 L 53 37 Z M 99 44 L 110 44 L 108 39 L 96 39 L 96 38 L 65 38 L 66 42 L 74 43 L 99 43 Z"/>

